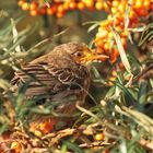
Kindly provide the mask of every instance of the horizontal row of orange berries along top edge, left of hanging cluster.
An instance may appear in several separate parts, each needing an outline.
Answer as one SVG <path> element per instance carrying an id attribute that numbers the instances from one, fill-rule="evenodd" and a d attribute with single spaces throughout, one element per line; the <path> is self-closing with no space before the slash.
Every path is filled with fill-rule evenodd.
<path id="1" fill-rule="evenodd" d="M 68 11 L 72 10 L 106 10 L 108 11 L 108 5 L 103 0 L 52 0 L 51 2 L 45 3 L 44 0 L 19 0 L 19 5 L 22 10 L 30 10 L 31 15 L 56 15 L 57 17 L 62 17 Z"/>

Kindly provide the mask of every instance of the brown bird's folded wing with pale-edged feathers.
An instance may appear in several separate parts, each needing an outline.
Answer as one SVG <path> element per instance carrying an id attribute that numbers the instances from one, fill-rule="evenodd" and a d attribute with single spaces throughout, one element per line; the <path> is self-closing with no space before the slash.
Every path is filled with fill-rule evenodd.
<path id="1" fill-rule="evenodd" d="M 76 69 L 57 68 L 47 63 L 33 63 L 15 72 L 12 84 L 19 87 L 27 84 L 25 95 L 28 97 L 56 94 L 66 90 L 76 90 L 83 86 L 87 70 L 79 66 Z"/>

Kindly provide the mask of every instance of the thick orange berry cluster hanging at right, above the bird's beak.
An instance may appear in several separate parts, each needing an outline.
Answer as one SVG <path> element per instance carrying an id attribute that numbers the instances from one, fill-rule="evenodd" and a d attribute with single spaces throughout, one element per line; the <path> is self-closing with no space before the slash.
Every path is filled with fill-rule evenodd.
<path id="1" fill-rule="evenodd" d="M 131 3 L 128 3 L 128 0 L 113 0 L 109 7 L 110 13 L 107 20 L 99 24 L 95 36 L 95 46 L 97 52 L 109 56 L 110 61 L 115 62 L 119 52 L 111 27 L 119 33 L 122 46 L 126 48 L 128 38 L 126 24 L 129 22 L 128 27 L 134 27 L 142 17 L 148 16 L 153 10 L 153 1 L 131 0 Z"/>

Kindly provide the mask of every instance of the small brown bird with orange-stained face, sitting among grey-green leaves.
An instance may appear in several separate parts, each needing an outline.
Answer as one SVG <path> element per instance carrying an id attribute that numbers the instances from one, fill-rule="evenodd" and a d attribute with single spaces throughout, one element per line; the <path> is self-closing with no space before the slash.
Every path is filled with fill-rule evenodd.
<path id="1" fill-rule="evenodd" d="M 93 52 L 84 43 L 66 43 L 14 72 L 12 85 L 26 84 L 27 99 L 49 99 L 57 113 L 72 114 L 83 105 L 91 85 L 90 62 L 107 58 Z"/>

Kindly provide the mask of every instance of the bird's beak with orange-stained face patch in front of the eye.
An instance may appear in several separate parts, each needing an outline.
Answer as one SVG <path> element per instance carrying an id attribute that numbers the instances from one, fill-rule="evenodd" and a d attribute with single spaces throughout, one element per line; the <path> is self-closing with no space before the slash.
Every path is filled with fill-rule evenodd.
<path id="1" fill-rule="evenodd" d="M 81 61 L 86 63 L 86 62 L 91 62 L 94 60 L 104 61 L 107 58 L 109 58 L 109 57 L 106 55 L 97 54 L 94 50 L 92 51 L 92 50 L 87 49 L 84 51 L 84 57 L 82 58 Z"/>

